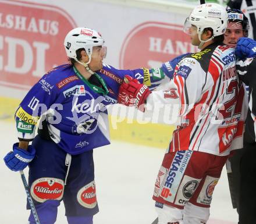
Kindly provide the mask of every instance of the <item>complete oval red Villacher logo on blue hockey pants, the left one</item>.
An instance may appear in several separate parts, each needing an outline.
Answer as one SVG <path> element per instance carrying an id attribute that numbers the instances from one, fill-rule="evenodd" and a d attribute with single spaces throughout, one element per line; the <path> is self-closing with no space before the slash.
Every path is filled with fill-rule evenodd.
<path id="1" fill-rule="evenodd" d="M 64 192 L 64 182 L 61 179 L 42 177 L 33 182 L 30 188 L 35 201 L 61 200 Z"/>

